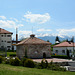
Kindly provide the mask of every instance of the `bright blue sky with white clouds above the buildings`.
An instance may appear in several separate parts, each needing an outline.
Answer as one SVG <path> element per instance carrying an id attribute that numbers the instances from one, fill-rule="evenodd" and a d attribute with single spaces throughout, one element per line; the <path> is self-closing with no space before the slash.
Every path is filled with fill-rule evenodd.
<path id="1" fill-rule="evenodd" d="M 0 28 L 19 38 L 37 36 L 74 36 L 75 0 L 0 0 Z"/>

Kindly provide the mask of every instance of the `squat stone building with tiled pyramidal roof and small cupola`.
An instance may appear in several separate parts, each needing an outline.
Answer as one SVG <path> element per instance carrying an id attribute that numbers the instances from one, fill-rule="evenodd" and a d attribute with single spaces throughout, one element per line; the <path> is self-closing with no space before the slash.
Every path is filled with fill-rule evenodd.
<path id="1" fill-rule="evenodd" d="M 36 38 L 34 34 L 19 42 L 16 47 L 16 54 L 19 58 L 26 55 L 28 58 L 48 58 L 51 53 L 51 43 Z"/>

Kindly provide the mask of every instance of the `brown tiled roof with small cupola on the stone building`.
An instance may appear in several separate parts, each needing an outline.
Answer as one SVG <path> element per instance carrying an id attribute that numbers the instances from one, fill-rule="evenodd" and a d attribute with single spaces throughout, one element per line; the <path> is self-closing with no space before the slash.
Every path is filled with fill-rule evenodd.
<path id="1" fill-rule="evenodd" d="M 25 44 L 48 44 L 50 45 L 51 43 L 38 39 L 34 35 L 30 35 L 30 38 L 27 38 L 19 42 L 17 45 L 25 45 Z"/>

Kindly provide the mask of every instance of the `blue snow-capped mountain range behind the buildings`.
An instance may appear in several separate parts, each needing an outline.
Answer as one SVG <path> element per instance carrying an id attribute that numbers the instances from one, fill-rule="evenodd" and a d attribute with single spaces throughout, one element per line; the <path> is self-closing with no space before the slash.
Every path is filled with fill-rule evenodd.
<path id="1" fill-rule="evenodd" d="M 59 36 L 58 36 L 59 37 Z M 39 39 L 42 39 L 44 41 L 47 41 L 49 40 L 50 43 L 54 44 L 55 43 L 55 39 L 56 39 L 56 36 L 44 36 L 44 37 L 38 37 Z M 64 36 L 64 37 L 59 37 L 59 40 L 60 41 L 63 41 L 63 40 L 66 40 L 68 39 L 69 41 L 71 40 L 72 37 L 69 37 L 69 36 Z"/>

